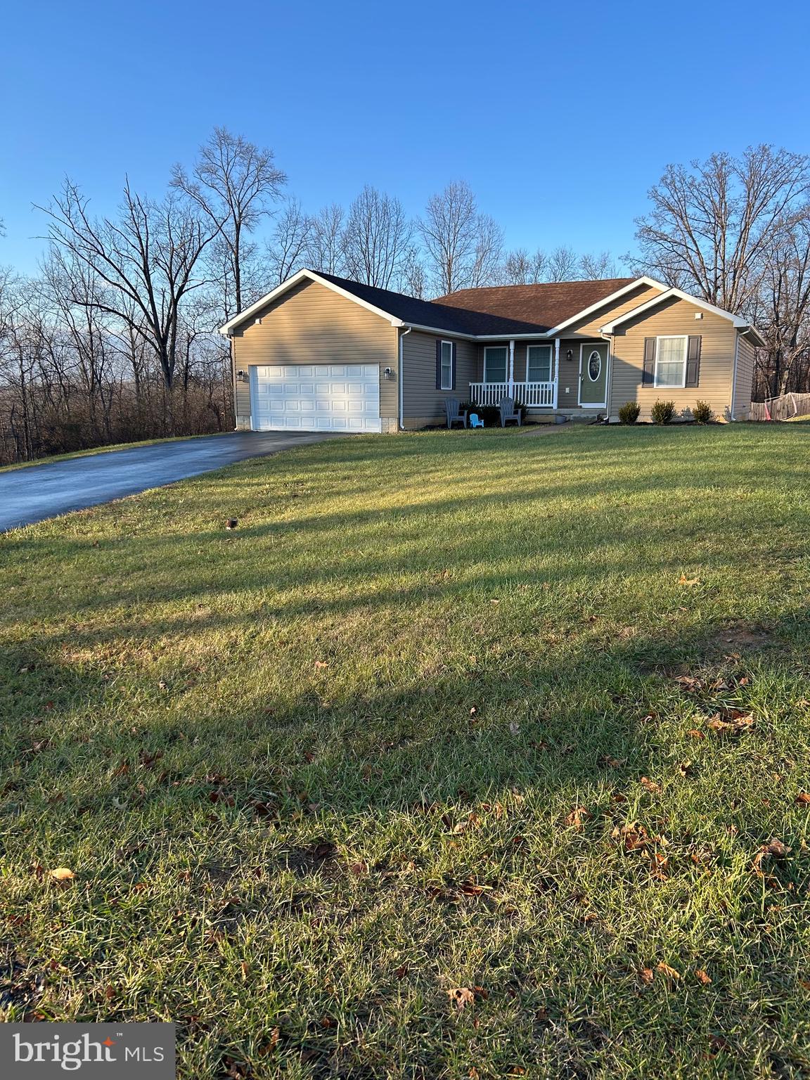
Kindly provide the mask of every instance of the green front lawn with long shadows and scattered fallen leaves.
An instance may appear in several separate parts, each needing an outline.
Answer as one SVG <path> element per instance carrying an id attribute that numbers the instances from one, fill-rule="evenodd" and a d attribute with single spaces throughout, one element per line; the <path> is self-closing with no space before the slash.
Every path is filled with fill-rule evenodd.
<path id="1" fill-rule="evenodd" d="M 189 1080 L 810 1076 L 809 450 L 356 437 L 0 538 L 5 1018 L 176 1021 Z"/>

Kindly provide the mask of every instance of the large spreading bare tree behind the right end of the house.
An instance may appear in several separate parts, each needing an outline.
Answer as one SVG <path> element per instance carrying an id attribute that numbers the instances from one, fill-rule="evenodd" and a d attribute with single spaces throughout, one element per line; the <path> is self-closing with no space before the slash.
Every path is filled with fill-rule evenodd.
<path id="1" fill-rule="evenodd" d="M 669 165 L 649 191 L 652 210 L 636 220 L 634 269 L 740 311 L 756 294 L 777 234 L 810 190 L 810 159 L 748 147 L 742 158 L 713 153 Z"/>

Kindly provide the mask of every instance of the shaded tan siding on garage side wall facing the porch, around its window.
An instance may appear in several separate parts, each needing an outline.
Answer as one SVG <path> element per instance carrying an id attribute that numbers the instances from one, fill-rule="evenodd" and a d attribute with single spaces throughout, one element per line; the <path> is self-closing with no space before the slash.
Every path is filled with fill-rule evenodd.
<path id="1" fill-rule="evenodd" d="M 436 390 L 436 341 L 456 345 L 456 389 Z M 403 349 L 403 416 L 405 426 L 424 427 L 444 422 L 447 397 L 460 402 L 470 397 L 470 383 L 477 381 L 475 343 L 450 334 L 424 334 L 411 330 L 402 342 Z"/>

